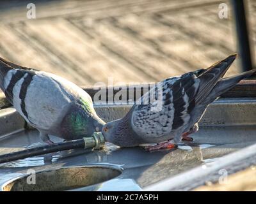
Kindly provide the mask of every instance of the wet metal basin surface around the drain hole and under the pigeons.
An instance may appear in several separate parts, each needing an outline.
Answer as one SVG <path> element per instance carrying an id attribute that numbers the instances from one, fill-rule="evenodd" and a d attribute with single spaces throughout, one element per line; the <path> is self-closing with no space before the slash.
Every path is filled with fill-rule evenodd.
<path id="1" fill-rule="evenodd" d="M 80 190 L 111 190 L 116 185 L 127 189 L 139 189 L 167 179 L 173 175 L 194 168 L 204 163 L 211 163 L 230 152 L 256 142 L 255 127 L 227 126 L 201 128 L 193 135 L 193 142 L 180 143 L 179 149 L 146 152 L 140 147 L 120 149 L 108 143 L 104 150 L 72 150 L 56 152 L 45 156 L 30 157 L 19 161 L 0 165 L 0 185 L 10 179 L 26 173 L 29 168 L 36 171 L 49 170 L 67 166 L 103 165 L 116 166 L 122 174 L 106 184 L 84 187 Z M 53 139 L 60 141 L 58 138 Z M 15 133 L 12 137 L 1 141 L 1 154 L 12 152 L 24 147 L 40 145 L 36 130 Z M 111 184 L 113 182 L 113 184 Z M 123 189 L 123 188 L 122 188 Z"/>

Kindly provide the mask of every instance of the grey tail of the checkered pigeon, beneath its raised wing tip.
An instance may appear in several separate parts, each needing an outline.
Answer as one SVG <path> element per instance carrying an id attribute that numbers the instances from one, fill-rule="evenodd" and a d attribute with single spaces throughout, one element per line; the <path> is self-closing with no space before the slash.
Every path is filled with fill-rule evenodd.
<path id="1" fill-rule="evenodd" d="M 238 82 L 244 78 L 250 77 L 254 73 L 256 73 L 256 69 L 246 71 L 233 77 L 222 78 L 212 89 L 211 93 L 209 94 L 209 99 L 216 99 L 221 94 L 225 93 L 229 89 L 232 89 L 232 87 L 234 87 Z"/>

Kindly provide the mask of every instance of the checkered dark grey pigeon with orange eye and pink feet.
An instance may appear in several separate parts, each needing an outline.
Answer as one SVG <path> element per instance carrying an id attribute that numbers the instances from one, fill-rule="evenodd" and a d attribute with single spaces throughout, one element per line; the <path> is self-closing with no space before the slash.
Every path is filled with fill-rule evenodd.
<path id="1" fill-rule="evenodd" d="M 182 138 L 192 140 L 188 135 L 198 131 L 198 121 L 207 106 L 240 80 L 256 72 L 253 69 L 234 77 L 222 78 L 236 57 L 237 54 L 233 54 L 207 69 L 166 78 L 158 83 L 141 96 L 122 119 L 103 126 L 102 135 L 106 142 L 120 147 L 154 143 L 156 145 L 146 147 L 148 150 L 157 150 L 173 149 Z M 163 103 L 156 111 L 156 101 L 151 100 L 147 104 L 143 104 L 143 101 L 154 94 L 156 98 L 154 90 L 159 85 L 162 92 L 157 96 L 162 96 Z"/>

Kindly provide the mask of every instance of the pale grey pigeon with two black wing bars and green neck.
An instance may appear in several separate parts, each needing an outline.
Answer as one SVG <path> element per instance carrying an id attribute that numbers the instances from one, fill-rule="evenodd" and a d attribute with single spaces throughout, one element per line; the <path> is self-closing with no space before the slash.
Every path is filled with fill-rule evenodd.
<path id="1" fill-rule="evenodd" d="M 1 57 L 0 88 L 46 143 L 53 143 L 49 135 L 65 140 L 91 136 L 105 124 L 95 112 L 92 98 L 77 85 Z"/>

